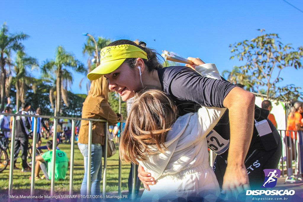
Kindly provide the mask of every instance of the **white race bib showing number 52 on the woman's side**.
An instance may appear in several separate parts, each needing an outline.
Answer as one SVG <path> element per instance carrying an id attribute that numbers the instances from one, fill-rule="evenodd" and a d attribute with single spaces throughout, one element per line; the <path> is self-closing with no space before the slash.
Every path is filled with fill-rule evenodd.
<path id="1" fill-rule="evenodd" d="M 214 130 L 208 133 L 206 140 L 208 147 L 218 155 L 224 153 L 229 147 L 229 139 L 225 140 Z"/>

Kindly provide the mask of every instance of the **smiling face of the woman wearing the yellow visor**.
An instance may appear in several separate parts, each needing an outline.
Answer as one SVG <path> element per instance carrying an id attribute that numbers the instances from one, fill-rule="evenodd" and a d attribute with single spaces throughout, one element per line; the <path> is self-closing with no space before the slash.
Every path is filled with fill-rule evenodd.
<path id="1" fill-rule="evenodd" d="M 111 91 L 118 92 L 123 101 L 134 97 L 135 92 L 142 88 L 139 72 L 129 67 L 126 62 L 123 62 L 115 71 L 104 76 L 108 79 L 108 88 Z"/>

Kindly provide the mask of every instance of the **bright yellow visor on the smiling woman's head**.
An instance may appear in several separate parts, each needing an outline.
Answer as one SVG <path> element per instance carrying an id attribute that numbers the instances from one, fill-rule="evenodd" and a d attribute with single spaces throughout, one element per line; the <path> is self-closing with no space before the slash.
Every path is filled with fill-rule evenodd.
<path id="1" fill-rule="evenodd" d="M 147 54 L 141 48 L 129 44 L 102 48 L 100 51 L 100 65 L 89 72 L 87 78 L 96 80 L 102 75 L 115 71 L 126 58 L 147 59 Z"/>

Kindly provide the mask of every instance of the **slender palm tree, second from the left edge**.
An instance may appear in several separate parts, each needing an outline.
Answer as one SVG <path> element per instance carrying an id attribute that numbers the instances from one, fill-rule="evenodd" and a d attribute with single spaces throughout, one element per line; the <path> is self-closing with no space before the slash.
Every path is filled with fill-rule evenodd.
<path id="1" fill-rule="evenodd" d="M 29 57 L 23 51 L 17 51 L 16 60 L 15 60 L 15 86 L 16 86 L 16 105 L 17 111 L 19 109 L 19 100 L 25 102 L 25 94 L 27 90 L 26 84 L 32 84 L 33 79 L 26 71 L 30 67 L 33 70 L 35 67 L 38 67 L 38 60 L 36 58 Z M 35 85 L 32 85 L 35 87 Z"/>

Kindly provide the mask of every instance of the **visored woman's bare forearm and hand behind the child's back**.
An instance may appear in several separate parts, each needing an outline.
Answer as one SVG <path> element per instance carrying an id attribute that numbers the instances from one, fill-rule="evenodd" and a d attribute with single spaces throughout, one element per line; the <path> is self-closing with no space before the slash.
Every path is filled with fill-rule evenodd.
<path id="1" fill-rule="evenodd" d="M 223 105 L 229 110 L 230 146 L 222 188 L 241 191 L 249 187 L 244 160 L 254 128 L 255 95 L 235 87 Z"/>

